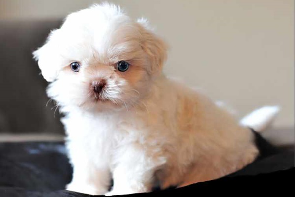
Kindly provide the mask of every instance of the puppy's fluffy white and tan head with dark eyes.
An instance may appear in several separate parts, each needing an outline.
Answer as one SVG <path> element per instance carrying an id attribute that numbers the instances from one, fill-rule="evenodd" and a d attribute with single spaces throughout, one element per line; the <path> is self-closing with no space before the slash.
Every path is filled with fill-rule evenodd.
<path id="1" fill-rule="evenodd" d="M 59 105 L 121 109 L 148 93 L 166 46 L 146 20 L 101 4 L 70 14 L 33 54 Z"/>

